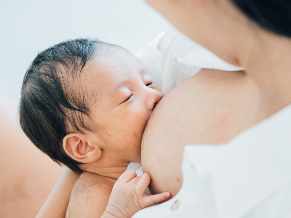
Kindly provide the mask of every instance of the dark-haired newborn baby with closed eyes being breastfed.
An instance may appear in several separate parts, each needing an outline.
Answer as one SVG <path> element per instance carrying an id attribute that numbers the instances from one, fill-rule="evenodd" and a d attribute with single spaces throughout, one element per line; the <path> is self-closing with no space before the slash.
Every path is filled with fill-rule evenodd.
<path id="1" fill-rule="evenodd" d="M 150 176 L 126 171 L 141 162 L 141 137 L 162 97 L 134 56 L 116 45 L 69 40 L 33 60 L 23 80 L 20 124 L 52 160 L 81 173 L 66 217 L 101 217 L 105 208 L 104 217 L 118 216 L 120 202 L 132 216 L 169 197 L 146 196 Z"/>

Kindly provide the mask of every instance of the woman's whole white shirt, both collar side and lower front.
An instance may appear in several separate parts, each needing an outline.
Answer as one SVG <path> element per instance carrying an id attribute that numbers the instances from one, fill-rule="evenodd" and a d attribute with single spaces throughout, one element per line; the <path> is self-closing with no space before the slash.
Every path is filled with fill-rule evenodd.
<path id="1" fill-rule="evenodd" d="M 242 69 L 178 31 L 170 32 L 138 54 L 164 93 L 200 68 Z M 291 105 L 227 144 L 186 145 L 181 190 L 133 217 L 290 218 L 290 133 Z"/>

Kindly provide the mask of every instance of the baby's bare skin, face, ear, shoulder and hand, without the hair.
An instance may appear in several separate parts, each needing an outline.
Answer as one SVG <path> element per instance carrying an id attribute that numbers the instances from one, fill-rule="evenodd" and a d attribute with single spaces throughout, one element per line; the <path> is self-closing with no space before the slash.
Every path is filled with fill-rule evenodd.
<path id="1" fill-rule="evenodd" d="M 168 192 L 144 194 L 149 174 L 139 177 L 126 171 L 129 162 L 141 162 L 145 125 L 164 95 L 136 58 L 120 47 L 110 46 L 102 56 L 93 57 L 82 76 L 80 87 L 92 97 L 90 117 L 98 130 L 71 131 L 63 139 L 67 155 L 83 163 L 66 217 L 131 217 L 168 199 Z M 116 194 L 109 197 L 112 189 Z"/>

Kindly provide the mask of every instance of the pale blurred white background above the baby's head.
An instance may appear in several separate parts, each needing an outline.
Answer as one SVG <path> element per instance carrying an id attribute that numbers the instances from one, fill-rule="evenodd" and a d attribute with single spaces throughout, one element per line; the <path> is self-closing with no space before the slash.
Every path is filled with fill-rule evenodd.
<path id="1" fill-rule="evenodd" d="M 1 108 L 17 108 L 29 64 L 58 42 L 98 38 L 135 53 L 168 25 L 143 0 L 0 0 Z"/>

